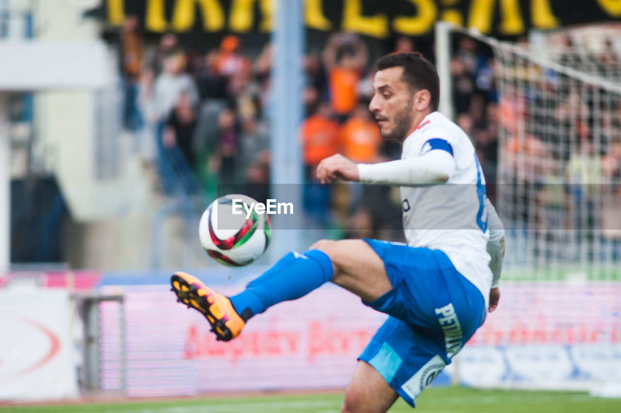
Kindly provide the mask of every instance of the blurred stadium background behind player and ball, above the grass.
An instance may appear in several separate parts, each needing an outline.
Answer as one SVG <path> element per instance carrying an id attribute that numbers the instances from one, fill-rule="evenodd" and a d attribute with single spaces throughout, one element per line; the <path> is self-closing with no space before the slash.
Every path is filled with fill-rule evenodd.
<path id="1" fill-rule="evenodd" d="M 166 284 L 234 293 L 320 238 L 404 241 L 398 189 L 314 178 L 400 158 L 367 106 L 402 51 L 437 65 L 507 228 L 501 306 L 434 383 L 621 393 L 621 11 L 581 4 L 0 0 L 0 400 L 343 388 L 384 318 L 355 296 L 227 347 Z M 207 257 L 212 200 L 283 191 L 304 213 L 265 257 Z"/>

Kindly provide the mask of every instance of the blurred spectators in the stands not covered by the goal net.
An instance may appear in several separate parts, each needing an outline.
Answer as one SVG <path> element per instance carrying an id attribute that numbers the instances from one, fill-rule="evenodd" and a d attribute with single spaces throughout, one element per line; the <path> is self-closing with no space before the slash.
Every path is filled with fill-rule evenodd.
<path id="1" fill-rule="evenodd" d="M 392 50 L 384 52 L 404 51 L 417 51 L 412 38 L 397 38 Z M 198 187 L 212 197 L 217 184 L 245 185 L 245 192 L 259 200 L 268 196 L 270 43 L 251 55 L 234 35 L 204 53 L 183 47 L 172 33 L 147 47 L 137 19 L 127 18 L 120 32 L 124 125 L 132 131 L 153 131 L 160 174 L 168 172 L 158 161 L 181 160 L 188 167 L 170 169 L 187 175 L 188 181 L 197 179 Z M 498 131 L 494 61 L 471 38 L 458 40 L 453 56 L 456 120 L 476 143 L 484 173 L 493 183 Z M 368 110 L 375 73 L 368 45 L 357 35 L 335 33 L 322 50 L 304 56 L 304 73 L 300 138 L 308 224 L 342 228 L 345 237 L 401 239 L 398 190 L 319 185 L 315 179 L 319 161 L 335 153 L 362 163 L 401 155 L 398 143 L 381 139 Z M 175 191 L 166 187 L 166 179 L 162 182 L 165 192 Z"/>

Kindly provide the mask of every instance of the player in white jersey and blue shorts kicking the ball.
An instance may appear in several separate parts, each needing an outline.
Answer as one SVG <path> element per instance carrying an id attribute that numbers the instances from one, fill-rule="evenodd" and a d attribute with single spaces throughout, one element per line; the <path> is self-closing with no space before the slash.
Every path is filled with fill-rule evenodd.
<path id="1" fill-rule="evenodd" d="M 492 280 L 501 271 L 504 230 L 468 136 L 437 112 L 435 69 L 417 53 L 384 56 L 377 68 L 369 109 L 383 138 L 403 143 L 402 159 L 367 165 L 337 154 L 320 162 L 317 177 L 399 185 L 407 244 L 318 241 L 285 255 L 230 297 L 186 273 L 171 278 L 178 298 L 206 316 L 219 340 L 233 339 L 256 314 L 328 281 L 388 314 L 360 355 L 342 412 L 386 412 L 399 396 L 414 406 L 500 296 Z"/>

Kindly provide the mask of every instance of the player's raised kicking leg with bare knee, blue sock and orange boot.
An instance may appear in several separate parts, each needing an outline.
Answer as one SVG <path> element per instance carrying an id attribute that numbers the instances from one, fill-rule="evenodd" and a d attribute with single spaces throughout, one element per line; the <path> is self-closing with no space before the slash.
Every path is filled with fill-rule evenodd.
<path id="1" fill-rule="evenodd" d="M 179 301 L 201 311 L 218 339 L 228 341 L 255 314 L 282 301 L 296 300 L 330 280 L 366 302 L 392 288 L 379 255 L 361 240 L 322 240 L 303 254 L 290 252 L 230 298 L 181 272 L 173 275 L 171 284 Z"/>

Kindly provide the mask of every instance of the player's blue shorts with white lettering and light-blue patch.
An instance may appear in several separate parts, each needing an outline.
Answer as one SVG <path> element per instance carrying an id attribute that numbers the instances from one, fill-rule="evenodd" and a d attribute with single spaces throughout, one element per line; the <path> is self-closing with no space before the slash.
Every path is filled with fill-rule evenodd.
<path id="1" fill-rule="evenodd" d="M 486 316 L 481 291 L 439 250 L 364 239 L 384 262 L 392 290 L 372 303 L 389 315 L 359 360 L 412 407 Z"/>

